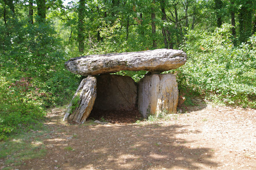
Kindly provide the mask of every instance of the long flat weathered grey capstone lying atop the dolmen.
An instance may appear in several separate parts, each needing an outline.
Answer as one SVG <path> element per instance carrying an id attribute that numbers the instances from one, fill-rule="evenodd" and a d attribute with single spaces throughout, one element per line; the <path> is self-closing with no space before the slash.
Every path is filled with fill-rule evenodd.
<path id="1" fill-rule="evenodd" d="M 181 50 L 155 49 L 71 58 L 65 63 L 65 67 L 70 72 L 87 76 L 113 73 L 120 70 L 163 72 L 176 69 L 185 62 L 186 54 Z"/>

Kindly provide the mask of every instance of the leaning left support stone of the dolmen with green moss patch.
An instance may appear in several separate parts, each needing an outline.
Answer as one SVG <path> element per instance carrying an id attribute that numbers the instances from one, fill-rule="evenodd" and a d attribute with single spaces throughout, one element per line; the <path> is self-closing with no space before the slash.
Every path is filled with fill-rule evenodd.
<path id="1" fill-rule="evenodd" d="M 93 109 L 95 98 L 96 78 L 89 75 L 81 81 L 67 108 L 63 121 L 71 120 L 77 123 L 84 123 Z"/>

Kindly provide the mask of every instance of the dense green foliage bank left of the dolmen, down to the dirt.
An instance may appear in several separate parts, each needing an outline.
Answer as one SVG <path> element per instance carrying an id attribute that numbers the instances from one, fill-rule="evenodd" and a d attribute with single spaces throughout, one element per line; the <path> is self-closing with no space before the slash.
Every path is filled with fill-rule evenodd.
<path id="1" fill-rule="evenodd" d="M 0 140 L 32 129 L 46 108 L 66 104 L 79 81 L 64 69 L 66 54 L 50 23 L 8 23 L 9 33 L 0 25 Z"/>

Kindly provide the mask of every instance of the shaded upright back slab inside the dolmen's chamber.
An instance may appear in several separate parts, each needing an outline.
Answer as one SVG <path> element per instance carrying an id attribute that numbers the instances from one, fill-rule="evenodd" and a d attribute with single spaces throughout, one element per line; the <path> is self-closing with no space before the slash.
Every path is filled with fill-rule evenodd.
<path id="1" fill-rule="evenodd" d="M 97 97 L 93 109 L 134 110 L 137 99 L 137 86 L 134 80 L 122 75 L 99 75 Z"/>

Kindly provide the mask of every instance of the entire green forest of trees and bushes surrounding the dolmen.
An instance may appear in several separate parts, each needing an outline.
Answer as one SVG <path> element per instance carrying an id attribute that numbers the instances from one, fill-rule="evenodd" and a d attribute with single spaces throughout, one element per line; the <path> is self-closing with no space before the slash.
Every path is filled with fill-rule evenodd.
<path id="1" fill-rule="evenodd" d="M 0 140 L 69 103 L 81 76 L 68 59 L 162 48 L 187 54 L 167 71 L 185 105 L 200 95 L 256 109 L 254 0 L 0 0 Z"/>

